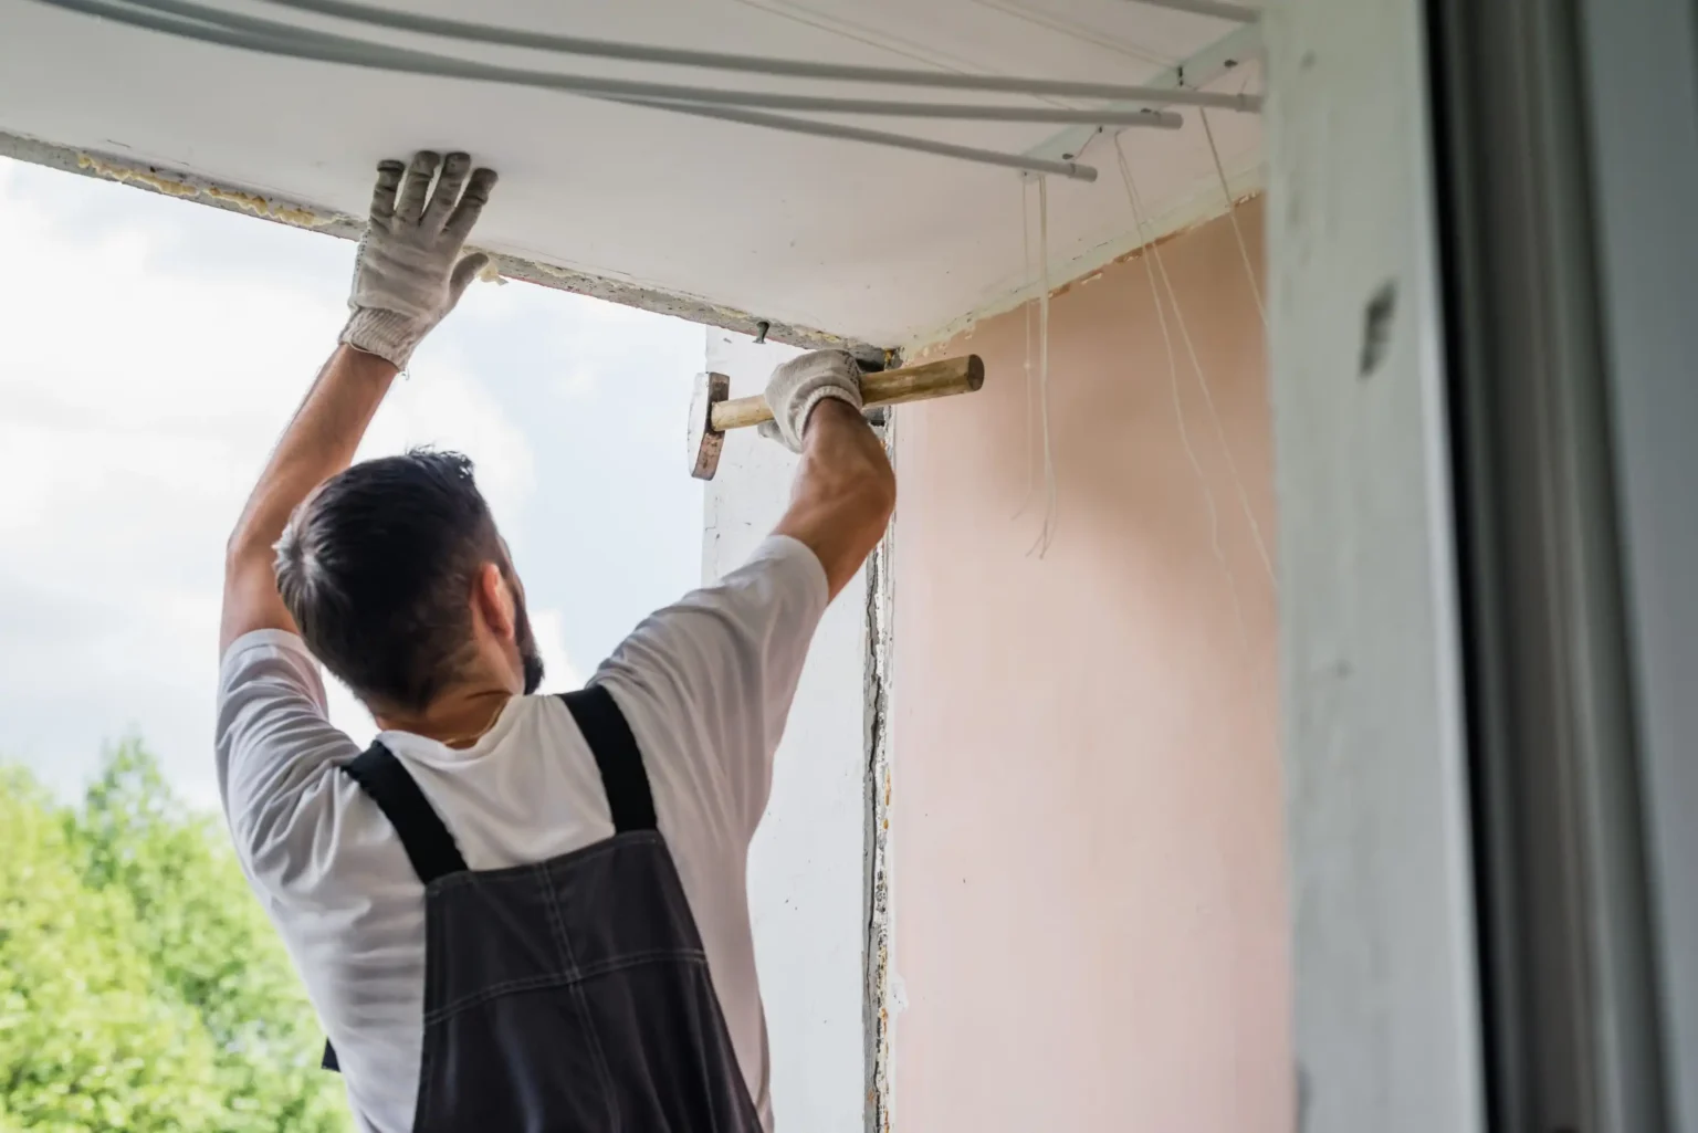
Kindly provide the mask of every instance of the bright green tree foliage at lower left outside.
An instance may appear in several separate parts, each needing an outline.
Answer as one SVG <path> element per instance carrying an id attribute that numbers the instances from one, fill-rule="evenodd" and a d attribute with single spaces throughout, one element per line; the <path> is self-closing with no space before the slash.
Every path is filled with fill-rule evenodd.
<path id="1" fill-rule="evenodd" d="M 126 742 L 76 809 L 0 769 L 0 1133 L 346 1130 L 224 831 Z"/>

